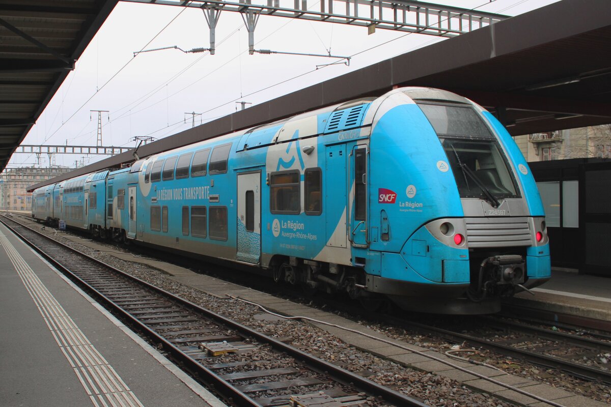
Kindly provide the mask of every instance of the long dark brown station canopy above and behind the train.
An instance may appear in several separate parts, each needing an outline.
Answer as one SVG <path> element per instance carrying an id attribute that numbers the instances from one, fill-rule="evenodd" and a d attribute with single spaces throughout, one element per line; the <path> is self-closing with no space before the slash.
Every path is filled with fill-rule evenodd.
<path id="1" fill-rule="evenodd" d="M 138 155 L 401 86 L 466 96 L 494 113 L 512 135 L 611 123 L 610 15 L 609 0 L 555 2 L 148 143 Z M 50 182 L 133 159 L 118 154 Z M 42 184 L 32 188 L 37 186 Z"/>

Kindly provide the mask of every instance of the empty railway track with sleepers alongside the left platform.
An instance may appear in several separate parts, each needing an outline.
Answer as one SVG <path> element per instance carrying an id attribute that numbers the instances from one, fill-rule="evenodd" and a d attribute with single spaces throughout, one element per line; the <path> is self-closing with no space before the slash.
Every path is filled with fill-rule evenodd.
<path id="1" fill-rule="evenodd" d="M 183 370 L 236 406 L 425 406 L 201 308 L 6 217 L 0 220 Z"/>

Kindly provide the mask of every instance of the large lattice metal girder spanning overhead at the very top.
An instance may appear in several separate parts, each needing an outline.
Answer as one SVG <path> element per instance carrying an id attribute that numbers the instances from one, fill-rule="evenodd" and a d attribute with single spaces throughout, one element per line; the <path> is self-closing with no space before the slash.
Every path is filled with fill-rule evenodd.
<path id="1" fill-rule="evenodd" d="M 267 0 L 267 4 L 251 4 L 251 0 L 244 0 L 244 2 L 220 0 L 124 1 L 177 5 L 204 10 L 213 6 L 219 11 L 227 10 L 250 15 L 257 13 L 364 27 L 374 26 L 379 29 L 417 32 L 438 37 L 455 37 L 509 18 L 506 15 L 409 0 L 321 0 L 318 10 L 310 9 L 307 0 Z M 315 4 L 313 0 L 310 0 L 310 3 Z"/>

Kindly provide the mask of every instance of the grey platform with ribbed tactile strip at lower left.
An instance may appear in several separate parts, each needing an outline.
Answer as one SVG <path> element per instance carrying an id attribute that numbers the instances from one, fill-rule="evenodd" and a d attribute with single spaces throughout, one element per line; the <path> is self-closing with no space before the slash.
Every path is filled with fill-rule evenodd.
<path id="1" fill-rule="evenodd" d="M 0 225 L 2 406 L 225 406 Z"/>

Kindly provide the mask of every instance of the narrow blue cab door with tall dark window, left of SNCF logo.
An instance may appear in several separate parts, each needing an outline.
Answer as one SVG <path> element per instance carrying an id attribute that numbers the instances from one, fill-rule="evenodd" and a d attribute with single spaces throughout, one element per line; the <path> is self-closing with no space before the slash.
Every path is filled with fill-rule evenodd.
<path id="1" fill-rule="evenodd" d="M 367 145 L 354 146 L 350 154 L 351 176 L 354 177 L 351 201 L 349 239 L 353 246 L 367 246 Z"/>

